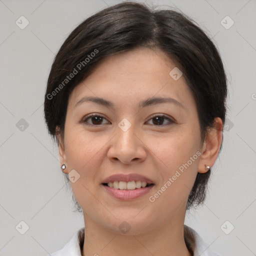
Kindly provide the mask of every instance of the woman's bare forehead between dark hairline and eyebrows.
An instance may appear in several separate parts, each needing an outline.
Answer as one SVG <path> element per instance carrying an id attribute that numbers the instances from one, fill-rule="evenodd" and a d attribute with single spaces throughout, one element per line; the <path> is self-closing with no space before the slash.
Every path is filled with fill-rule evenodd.
<path id="1" fill-rule="evenodd" d="M 141 47 L 116 53 L 105 57 L 76 85 L 69 102 L 74 107 L 82 96 L 93 95 L 110 101 L 129 98 L 134 103 L 155 95 L 193 103 L 183 76 L 175 80 L 170 75 L 173 68 L 177 68 L 175 63 L 159 49 Z"/>

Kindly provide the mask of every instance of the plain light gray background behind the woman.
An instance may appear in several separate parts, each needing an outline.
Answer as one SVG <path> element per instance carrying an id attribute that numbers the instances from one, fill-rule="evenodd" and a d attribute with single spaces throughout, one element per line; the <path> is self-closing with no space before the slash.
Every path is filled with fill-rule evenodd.
<path id="1" fill-rule="evenodd" d="M 48 255 L 84 225 L 83 217 L 72 212 L 57 148 L 46 131 L 43 96 L 54 53 L 69 32 L 118 2 L 0 0 L 1 256 Z M 223 150 L 212 168 L 206 202 L 185 223 L 222 255 L 256 255 L 256 1 L 147 3 L 179 8 L 197 21 L 218 45 L 229 81 Z M 15 24 L 21 15 L 29 21 L 24 29 Z M 221 24 L 226 15 L 234 21 L 229 29 Z M 21 220 L 29 226 L 24 234 Z"/>

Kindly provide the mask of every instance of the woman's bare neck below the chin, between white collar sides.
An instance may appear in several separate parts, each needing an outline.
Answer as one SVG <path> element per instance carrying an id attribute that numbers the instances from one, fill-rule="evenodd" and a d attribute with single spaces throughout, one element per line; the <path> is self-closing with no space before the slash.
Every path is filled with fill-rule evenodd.
<path id="1" fill-rule="evenodd" d="M 184 240 L 184 216 L 145 233 L 120 234 L 93 221 L 84 213 L 85 236 L 82 256 L 162 255 L 191 256 Z M 160 220 L 159 220 L 160 223 Z M 130 234 L 129 234 L 130 233 Z"/>

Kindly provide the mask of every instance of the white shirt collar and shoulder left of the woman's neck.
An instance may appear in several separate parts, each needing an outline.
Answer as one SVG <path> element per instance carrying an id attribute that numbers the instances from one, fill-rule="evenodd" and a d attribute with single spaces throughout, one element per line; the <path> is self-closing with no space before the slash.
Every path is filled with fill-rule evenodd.
<path id="1" fill-rule="evenodd" d="M 84 227 L 80 228 L 75 234 L 72 236 L 70 241 L 65 244 L 65 246 L 51 253 L 51 256 L 81 256 L 81 248 L 84 239 Z"/>

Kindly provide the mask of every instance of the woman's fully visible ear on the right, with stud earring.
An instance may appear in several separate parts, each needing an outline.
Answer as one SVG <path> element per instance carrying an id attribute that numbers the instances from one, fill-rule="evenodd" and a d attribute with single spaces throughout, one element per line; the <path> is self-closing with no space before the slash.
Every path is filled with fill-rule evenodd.
<path id="1" fill-rule="evenodd" d="M 212 166 L 218 156 L 219 148 L 222 142 L 223 123 L 219 117 L 214 120 L 214 127 L 208 129 L 208 133 L 203 142 L 200 160 L 198 163 L 198 172 L 205 173 L 208 169 L 205 166 Z"/>

